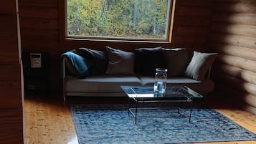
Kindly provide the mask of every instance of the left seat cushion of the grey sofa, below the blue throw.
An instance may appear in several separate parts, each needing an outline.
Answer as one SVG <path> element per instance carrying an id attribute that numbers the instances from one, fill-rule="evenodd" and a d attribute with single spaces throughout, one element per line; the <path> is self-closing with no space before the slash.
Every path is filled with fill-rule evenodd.
<path id="1" fill-rule="evenodd" d="M 123 92 L 120 85 L 141 85 L 135 76 L 95 75 L 86 79 L 65 77 L 65 92 Z"/>

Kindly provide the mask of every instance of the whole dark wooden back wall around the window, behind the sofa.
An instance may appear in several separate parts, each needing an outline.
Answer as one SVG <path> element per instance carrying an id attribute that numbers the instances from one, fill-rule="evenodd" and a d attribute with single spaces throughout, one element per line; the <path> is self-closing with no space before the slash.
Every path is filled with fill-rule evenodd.
<path id="1" fill-rule="evenodd" d="M 64 2 L 19 0 L 23 52 L 47 52 L 52 57 L 50 91 L 62 92 L 60 54 L 77 47 L 105 49 L 105 46 L 132 50 L 138 47 L 186 47 L 204 50 L 207 43 L 212 0 L 176 1 L 172 44 L 134 42 L 91 42 L 64 40 Z"/>

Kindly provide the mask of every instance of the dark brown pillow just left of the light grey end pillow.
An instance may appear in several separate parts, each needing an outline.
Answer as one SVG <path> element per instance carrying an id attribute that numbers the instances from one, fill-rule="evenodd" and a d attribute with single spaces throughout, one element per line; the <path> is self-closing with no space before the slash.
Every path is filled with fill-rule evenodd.
<path id="1" fill-rule="evenodd" d="M 166 59 L 168 76 L 184 75 L 184 71 L 189 64 L 189 52 L 185 48 L 164 49 L 163 56 Z"/>

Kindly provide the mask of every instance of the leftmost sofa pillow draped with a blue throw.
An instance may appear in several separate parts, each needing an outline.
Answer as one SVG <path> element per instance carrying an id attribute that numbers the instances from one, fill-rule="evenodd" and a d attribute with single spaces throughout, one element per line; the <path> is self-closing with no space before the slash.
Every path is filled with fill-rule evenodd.
<path id="1" fill-rule="evenodd" d="M 65 52 L 62 57 L 65 59 L 67 70 L 71 75 L 78 78 L 85 78 L 89 75 L 89 68 L 92 65 L 90 60 L 74 52 Z"/>

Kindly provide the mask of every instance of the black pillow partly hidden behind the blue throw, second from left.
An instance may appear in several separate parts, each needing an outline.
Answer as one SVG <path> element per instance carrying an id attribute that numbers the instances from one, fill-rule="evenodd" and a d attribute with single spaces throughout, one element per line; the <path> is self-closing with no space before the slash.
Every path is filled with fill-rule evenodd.
<path id="1" fill-rule="evenodd" d="M 108 55 L 105 50 L 94 50 L 81 47 L 75 51 L 82 57 L 90 59 L 93 63 L 92 67 L 90 67 L 90 75 L 105 75 L 105 71 L 108 67 Z"/>

